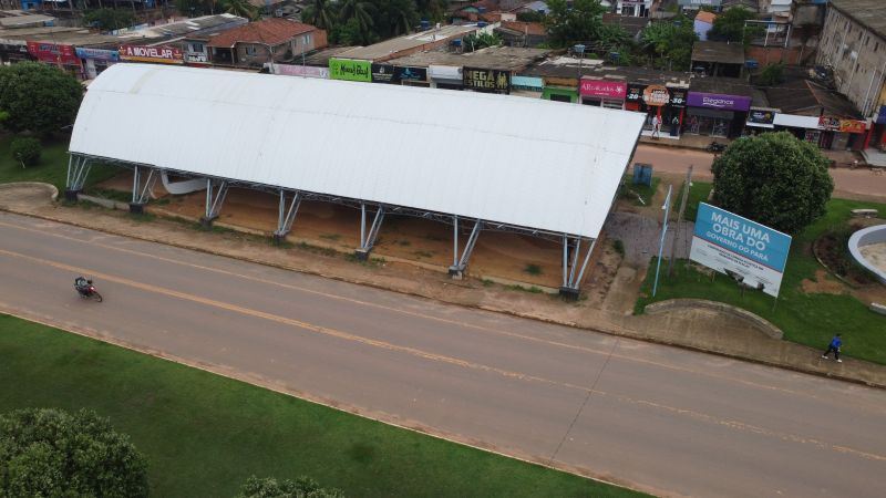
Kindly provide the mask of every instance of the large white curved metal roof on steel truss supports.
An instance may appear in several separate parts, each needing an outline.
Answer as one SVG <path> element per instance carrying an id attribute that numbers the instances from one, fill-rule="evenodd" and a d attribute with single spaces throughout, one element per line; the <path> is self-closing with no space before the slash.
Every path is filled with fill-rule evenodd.
<path id="1" fill-rule="evenodd" d="M 115 64 L 72 154 L 597 238 L 638 113 L 526 97 Z"/>

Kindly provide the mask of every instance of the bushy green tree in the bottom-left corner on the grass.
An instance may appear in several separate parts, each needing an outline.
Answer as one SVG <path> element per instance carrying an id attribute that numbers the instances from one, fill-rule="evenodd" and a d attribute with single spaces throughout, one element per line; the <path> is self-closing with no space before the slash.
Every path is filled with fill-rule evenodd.
<path id="1" fill-rule="evenodd" d="M 0 496 L 146 497 L 147 464 L 94 412 L 0 415 Z"/>

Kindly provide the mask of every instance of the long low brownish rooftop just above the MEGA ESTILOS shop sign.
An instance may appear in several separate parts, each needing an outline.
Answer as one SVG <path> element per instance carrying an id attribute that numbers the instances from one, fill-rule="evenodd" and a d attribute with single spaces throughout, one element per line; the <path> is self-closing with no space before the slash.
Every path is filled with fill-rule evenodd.
<path id="1" fill-rule="evenodd" d="M 499 71 L 521 71 L 533 62 L 545 58 L 550 51 L 522 49 L 516 46 L 491 46 L 470 53 L 420 52 L 404 58 L 392 59 L 391 64 L 413 68 L 429 65 L 455 65 L 483 68 Z"/>

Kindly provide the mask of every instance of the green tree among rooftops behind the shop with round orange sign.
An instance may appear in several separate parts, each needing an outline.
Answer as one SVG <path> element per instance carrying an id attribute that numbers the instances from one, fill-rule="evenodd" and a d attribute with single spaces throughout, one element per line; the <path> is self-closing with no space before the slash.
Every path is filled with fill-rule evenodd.
<path id="1" fill-rule="evenodd" d="M 686 15 L 653 22 L 640 32 L 643 51 L 658 58 L 659 68 L 689 68 L 692 44 L 698 39 L 692 21 Z"/>

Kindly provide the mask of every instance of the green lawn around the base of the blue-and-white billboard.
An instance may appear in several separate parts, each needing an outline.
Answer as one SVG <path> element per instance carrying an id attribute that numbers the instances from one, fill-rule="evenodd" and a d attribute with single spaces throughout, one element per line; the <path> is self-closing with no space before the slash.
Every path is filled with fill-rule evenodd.
<path id="1" fill-rule="evenodd" d="M 832 199 L 825 216 L 794 237 L 777 302 L 758 291 L 745 290 L 742 293 L 732 279 L 722 274 L 712 278 L 707 270 L 686 260 L 677 262 L 673 277 L 668 277 L 662 270 L 657 295 L 652 298 L 653 258 L 635 311 L 641 312 L 651 302 L 677 298 L 725 302 L 769 320 L 784 332 L 787 341 L 824 349 L 831 338 L 841 332 L 843 352 L 847 356 L 886 364 L 886 334 L 883 333 L 886 318 L 872 312 L 867 303 L 851 294 L 848 286 L 830 274 L 827 278 L 842 289 L 839 293 L 803 290 L 804 280 L 817 281 L 816 272 L 821 274 L 824 270 L 812 252 L 812 243 L 824 234 L 845 227 L 852 217 L 851 211 L 863 208 L 886 214 L 883 204 Z"/>

